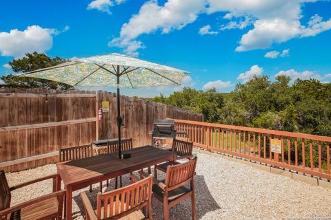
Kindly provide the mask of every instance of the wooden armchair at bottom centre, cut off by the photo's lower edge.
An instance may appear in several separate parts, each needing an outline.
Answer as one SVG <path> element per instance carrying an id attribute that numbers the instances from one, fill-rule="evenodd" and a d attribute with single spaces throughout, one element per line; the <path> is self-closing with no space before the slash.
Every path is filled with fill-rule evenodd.
<path id="1" fill-rule="evenodd" d="M 97 195 L 97 210 L 86 195 L 81 192 L 81 199 L 86 211 L 86 219 L 152 219 L 152 177 L 136 181 L 123 188 L 110 192 L 99 192 Z M 141 209 L 146 210 L 146 215 Z"/>

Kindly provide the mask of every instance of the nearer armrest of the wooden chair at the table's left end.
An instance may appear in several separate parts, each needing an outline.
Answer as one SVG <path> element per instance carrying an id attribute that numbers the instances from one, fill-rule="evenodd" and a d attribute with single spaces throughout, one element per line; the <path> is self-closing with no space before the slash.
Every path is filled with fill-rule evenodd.
<path id="1" fill-rule="evenodd" d="M 4 210 L 0 211 L 0 219 L 2 216 L 5 216 L 7 214 L 10 214 L 12 212 L 16 212 L 17 210 L 21 210 L 22 208 L 28 207 L 28 206 L 32 206 L 35 203 L 38 203 L 40 201 L 45 201 L 47 199 L 51 199 L 53 197 L 62 197 L 62 201 L 63 201 L 63 197 L 66 194 L 66 190 L 61 190 L 61 191 L 57 191 L 57 192 L 52 192 L 48 195 L 43 195 L 41 197 L 37 197 L 35 199 L 31 199 L 29 201 L 25 201 L 23 203 L 19 203 L 16 206 L 12 206 L 10 208 L 6 208 Z"/>

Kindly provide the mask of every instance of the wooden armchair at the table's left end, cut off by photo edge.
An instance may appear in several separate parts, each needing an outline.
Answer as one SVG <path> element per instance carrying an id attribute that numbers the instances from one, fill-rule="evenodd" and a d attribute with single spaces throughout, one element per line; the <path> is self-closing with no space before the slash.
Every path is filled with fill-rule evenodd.
<path id="1" fill-rule="evenodd" d="M 61 182 L 59 178 L 59 175 L 54 174 L 9 187 L 5 172 L 0 170 L 0 219 L 62 219 L 63 197 L 66 194 L 66 190 L 56 191 L 57 184 Z M 53 179 L 52 193 L 10 207 L 12 190 L 46 179 Z"/>

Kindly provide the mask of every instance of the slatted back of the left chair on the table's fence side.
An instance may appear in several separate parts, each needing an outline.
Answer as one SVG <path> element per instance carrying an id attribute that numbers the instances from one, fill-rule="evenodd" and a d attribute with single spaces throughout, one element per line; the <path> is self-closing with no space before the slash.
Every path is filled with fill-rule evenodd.
<path id="1" fill-rule="evenodd" d="M 68 160 L 82 159 L 85 157 L 92 157 L 92 144 L 83 146 L 73 146 L 69 148 L 60 148 L 59 161 L 66 162 Z"/>

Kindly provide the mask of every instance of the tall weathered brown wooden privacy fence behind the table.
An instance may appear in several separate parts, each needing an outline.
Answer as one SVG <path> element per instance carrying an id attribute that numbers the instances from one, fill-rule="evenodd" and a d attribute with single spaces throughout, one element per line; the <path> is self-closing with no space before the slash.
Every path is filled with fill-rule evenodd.
<path id="1" fill-rule="evenodd" d="M 109 112 L 98 120 L 102 101 Z M 106 91 L 0 89 L 0 169 L 23 170 L 57 162 L 59 148 L 117 137 L 116 96 Z M 123 137 L 150 143 L 157 118 L 203 121 L 203 115 L 165 104 L 121 96 Z"/>

